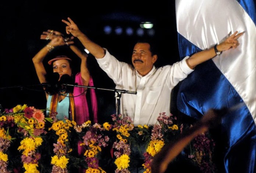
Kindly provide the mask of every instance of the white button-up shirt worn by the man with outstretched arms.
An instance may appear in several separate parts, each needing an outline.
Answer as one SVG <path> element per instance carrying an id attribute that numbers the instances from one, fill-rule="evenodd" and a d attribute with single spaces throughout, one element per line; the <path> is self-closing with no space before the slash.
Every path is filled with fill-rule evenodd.
<path id="1" fill-rule="evenodd" d="M 106 50 L 102 59 L 96 59 L 99 66 L 114 81 L 116 89 L 137 91 L 137 94 L 122 93 L 121 110 L 129 116 L 134 125 L 156 124 L 159 113 L 170 114 L 171 90 L 193 70 L 186 59 L 160 68 L 153 66 L 146 75 L 141 76 L 132 65 L 118 61 Z"/>

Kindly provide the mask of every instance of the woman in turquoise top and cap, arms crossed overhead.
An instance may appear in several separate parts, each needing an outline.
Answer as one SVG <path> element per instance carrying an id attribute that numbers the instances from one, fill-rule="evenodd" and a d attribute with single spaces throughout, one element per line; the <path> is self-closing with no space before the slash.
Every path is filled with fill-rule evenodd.
<path id="1" fill-rule="evenodd" d="M 81 52 L 73 41 L 74 37 L 64 38 L 64 35 L 54 30 L 47 30 L 40 36 L 42 40 L 50 40 L 34 57 L 33 64 L 40 83 L 55 84 L 51 87 L 44 87 L 47 99 L 47 114 L 57 113 L 56 118 L 64 120 L 68 118 L 74 120 L 78 125 L 88 120 L 97 122 L 97 99 L 94 89 L 74 87 L 67 89 L 60 81 L 70 81 L 78 85 L 93 86 L 93 80 L 87 68 L 87 57 L 85 52 Z M 48 61 L 48 65 L 53 68 L 53 73 L 46 72 L 43 61 L 45 57 L 56 47 L 65 46 L 70 48 L 80 59 L 80 72 L 73 74 L 72 58 L 68 56 L 57 56 Z M 86 95 L 90 97 L 86 99 Z M 90 105 L 90 106 L 89 106 Z"/>

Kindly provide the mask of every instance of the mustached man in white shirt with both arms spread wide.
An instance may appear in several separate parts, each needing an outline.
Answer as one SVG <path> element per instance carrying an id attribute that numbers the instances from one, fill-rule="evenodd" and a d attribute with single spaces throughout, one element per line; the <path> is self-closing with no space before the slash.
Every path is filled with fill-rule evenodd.
<path id="1" fill-rule="evenodd" d="M 121 97 L 121 114 L 129 116 L 134 125 L 156 124 L 159 113 L 170 114 L 171 90 L 190 74 L 196 65 L 219 55 L 222 51 L 236 48 L 242 33 L 235 32 L 222 43 L 184 58 L 174 65 L 154 67 L 157 55 L 152 54 L 149 43 L 137 43 L 132 54 L 132 64 L 119 62 L 107 49 L 92 42 L 77 25 L 68 18 L 67 34 L 77 37 L 95 56 L 100 67 L 114 81 L 117 89 L 136 91 L 137 94 L 125 93 Z"/>

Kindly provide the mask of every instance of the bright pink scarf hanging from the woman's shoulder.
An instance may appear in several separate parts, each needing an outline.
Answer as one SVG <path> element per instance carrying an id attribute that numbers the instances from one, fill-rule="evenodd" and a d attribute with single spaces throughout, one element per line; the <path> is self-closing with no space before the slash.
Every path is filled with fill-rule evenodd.
<path id="1" fill-rule="evenodd" d="M 81 73 L 78 73 L 75 76 L 75 83 L 78 85 L 83 85 L 82 82 L 82 77 Z M 92 77 L 90 77 L 89 80 L 89 87 L 93 87 L 93 81 Z M 85 91 L 86 88 L 81 88 L 81 87 L 74 87 L 74 96 L 78 96 L 81 93 Z M 89 89 L 89 88 L 87 88 Z M 84 122 L 90 120 L 89 118 L 89 109 L 88 109 L 88 104 L 86 100 L 86 92 L 78 97 L 74 97 L 74 102 L 75 102 L 75 116 L 76 116 L 76 122 L 78 125 L 83 124 Z M 93 113 L 93 123 L 98 122 L 97 118 L 97 112 L 98 112 L 98 106 L 97 106 L 97 98 L 96 98 L 96 93 L 94 89 L 90 89 L 90 99 L 92 103 L 92 113 Z"/>

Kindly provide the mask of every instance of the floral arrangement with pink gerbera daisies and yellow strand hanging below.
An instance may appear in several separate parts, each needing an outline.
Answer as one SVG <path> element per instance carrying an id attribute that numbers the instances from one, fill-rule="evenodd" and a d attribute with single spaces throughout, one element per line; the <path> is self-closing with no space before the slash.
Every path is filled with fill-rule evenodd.
<path id="1" fill-rule="evenodd" d="M 6 118 L 1 121 L 1 126 L 9 129 L 14 124 L 18 127 L 18 132 L 23 134 L 24 139 L 20 142 L 20 146 L 17 150 L 22 150 L 21 161 L 25 173 L 39 172 L 38 161 L 41 157 L 37 152 L 37 148 L 42 144 L 41 134 L 46 134 L 45 127 L 45 115 L 42 110 L 35 107 L 28 107 L 26 104 L 23 106 L 17 105 L 13 109 L 5 110 Z M 2 116 L 4 117 L 4 116 Z M 5 121 L 7 121 L 5 123 Z M 48 119 L 50 121 L 50 119 Z"/>

